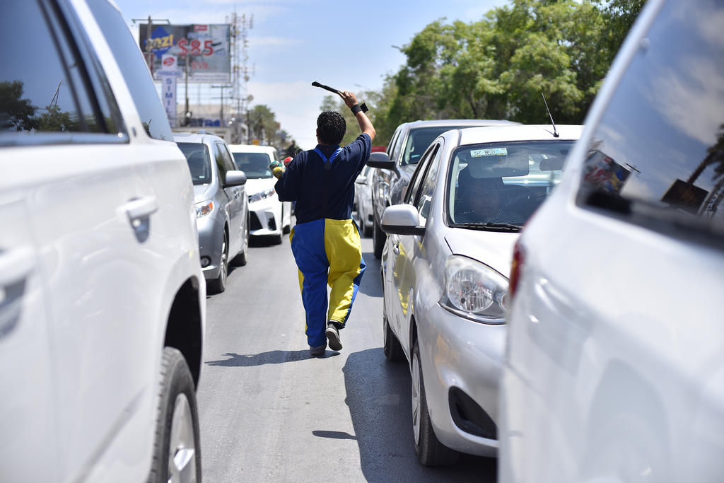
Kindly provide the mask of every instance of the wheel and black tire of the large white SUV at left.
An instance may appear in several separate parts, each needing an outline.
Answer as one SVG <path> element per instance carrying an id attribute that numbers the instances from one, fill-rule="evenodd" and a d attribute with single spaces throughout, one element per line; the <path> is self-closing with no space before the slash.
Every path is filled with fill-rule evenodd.
<path id="1" fill-rule="evenodd" d="M 196 392 L 185 358 L 167 347 L 161 358 L 161 397 L 148 483 L 201 483 L 201 444 Z M 175 416 L 175 417 L 174 417 Z M 172 435 L 174 441 L 171 441 Z M 178 468 L 174 456 L 187 454 Z"/>

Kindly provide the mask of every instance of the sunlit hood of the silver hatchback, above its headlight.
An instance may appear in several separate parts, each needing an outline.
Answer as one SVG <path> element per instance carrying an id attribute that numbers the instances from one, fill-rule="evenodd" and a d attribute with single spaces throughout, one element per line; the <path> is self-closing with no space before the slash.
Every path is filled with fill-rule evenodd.
<path id="1" fill-rule="evenodd" d="M 450 228 L 445 233 L 445 241 L 454 255 L 469 256 L 508 277 L 513 261 L 513 245 L 520 235 Z"/>

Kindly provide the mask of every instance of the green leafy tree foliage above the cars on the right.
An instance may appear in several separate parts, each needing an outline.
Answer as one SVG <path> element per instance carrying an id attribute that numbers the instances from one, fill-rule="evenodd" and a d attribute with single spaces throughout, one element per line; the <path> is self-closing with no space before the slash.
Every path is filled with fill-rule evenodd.
<path id="1" fill-rule="evenodd" d="M 643 3 L 513 0 L 476 22 L 426 25 L 382 91 L 366 93 L 376 143 L 416 119 L 547 123 L 541 93 L 555 122 L 580 124 Z"/>

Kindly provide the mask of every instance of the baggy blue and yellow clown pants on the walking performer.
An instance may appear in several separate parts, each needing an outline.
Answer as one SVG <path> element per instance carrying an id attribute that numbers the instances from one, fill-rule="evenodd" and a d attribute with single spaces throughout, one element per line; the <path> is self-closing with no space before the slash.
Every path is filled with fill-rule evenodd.
<path id="1" fill-rule="evenodd" d="M 306 312 L 307 342 L 326 344 L 327 323 L 345 327 L 365 263 L 360 234 L 351 219 L 316 219 L 296 224 L 290 234 Z M 327 285 L 332 287 L 327 306 Z"/>

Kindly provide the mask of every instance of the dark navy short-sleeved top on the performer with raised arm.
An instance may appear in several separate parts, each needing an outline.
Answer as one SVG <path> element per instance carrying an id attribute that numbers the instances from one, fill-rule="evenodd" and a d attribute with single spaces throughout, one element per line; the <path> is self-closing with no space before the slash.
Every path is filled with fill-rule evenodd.
<path id="1" fill-rule="evenodd" d="M 339 146 L 317 145 L 329 158 Z M 372 140 L 362 133 L 342 148 L 332 160 L 327 185 L 327 217 L 350 219 L 355 197 L 355 180 L 369 159 Z M 302 151 L 287 166 L 274 189 L 281 201 L 296 201 L 294 214 L 297 223 L 325 218 L 322 213 L 324 193 L 324 161 L 313 149 Z"/>

